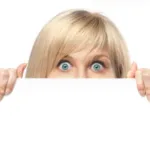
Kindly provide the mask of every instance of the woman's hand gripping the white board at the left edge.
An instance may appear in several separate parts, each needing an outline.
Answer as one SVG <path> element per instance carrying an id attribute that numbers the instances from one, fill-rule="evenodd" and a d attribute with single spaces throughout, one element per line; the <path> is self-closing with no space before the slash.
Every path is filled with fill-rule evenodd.
<path id="1" fill-rule="evenodd" d="M 22 78 L 27 64 L 21 64 L 17 69 L 0 69 L 0 100 L 13 91 L 17 78 Z"/>

